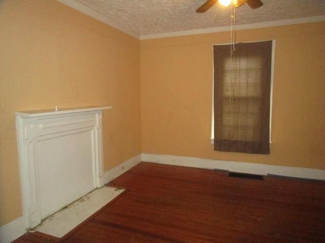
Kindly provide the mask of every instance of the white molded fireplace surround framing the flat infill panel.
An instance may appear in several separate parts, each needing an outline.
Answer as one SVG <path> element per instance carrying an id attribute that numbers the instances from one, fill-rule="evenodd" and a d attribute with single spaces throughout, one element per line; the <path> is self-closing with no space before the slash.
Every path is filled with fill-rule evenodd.
<path id="1" fill-rule="evenodd" d="M 93 188 L 104 185 L 101 184 L 103 182 L 102 110 L 106 108 L 88 107 L 87 109 L 16 114 L 22 214 L 26 219 L 25 228 L 35 227 L 42 219 L 39 164 L 36 156 L 39 141 L 90 131 L 92 134 Z M 29 117 L 29 114 L 37 115 Z"/>

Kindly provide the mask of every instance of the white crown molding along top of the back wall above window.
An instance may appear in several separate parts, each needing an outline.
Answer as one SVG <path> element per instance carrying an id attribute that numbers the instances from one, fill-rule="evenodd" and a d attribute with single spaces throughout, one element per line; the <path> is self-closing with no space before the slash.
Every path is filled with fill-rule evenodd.
<path id="1" fill-rule="evenodd" d="M 254 24 L 241 24 L 236 26 L 236 30 L 266 28 L 272 26 L 303 24 L 303 23 L 312 23 L 312 22 L 320 22 L 320 21 L 325 21 L 325 16 L 277 20 L 277 21 L 261 22 L 261 23 L 254 23 Z M 184 31 L 169 32 L 169 33 L 146 34 L 146 35 L 141 35 L 140 40 L 166 38 L 166 37 L 192 35 L 192 34 L 216 33 L 216 32 L 230 31 L 230 30 L 231 30 L 231 26 L 223 26 L 223 27 L 215 27 L 215 28 L 184 30 Z"/>

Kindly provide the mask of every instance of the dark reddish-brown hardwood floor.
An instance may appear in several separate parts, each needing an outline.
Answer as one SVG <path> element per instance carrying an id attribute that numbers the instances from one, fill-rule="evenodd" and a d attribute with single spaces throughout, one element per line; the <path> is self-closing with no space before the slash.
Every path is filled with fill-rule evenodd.
<path id="1" fill-rule="evenodd" d="M 110 186 L 127 191 L 63 238 L 15 242 L 325 242 L 325 182 L 141 163 Z"/>

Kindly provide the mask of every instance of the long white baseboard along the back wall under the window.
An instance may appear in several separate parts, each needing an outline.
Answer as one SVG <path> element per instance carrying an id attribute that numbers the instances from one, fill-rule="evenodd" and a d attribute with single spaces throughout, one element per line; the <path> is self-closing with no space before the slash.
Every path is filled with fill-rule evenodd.
<path id="1" fill-rule="evenodd" d="M 304 179 L 325 180 L 325 170 L 272 166 L 263 164 L 253 164 L 244 162 L 234 162 L 226 160 L 194 158 L 164 154 L 142 153 L 142 161 L 154 162 L 166 165 L 187 166 L 205 169 L 219 169 L 232 172 L 242 172 L 258 175 L 278 175 Z"/>

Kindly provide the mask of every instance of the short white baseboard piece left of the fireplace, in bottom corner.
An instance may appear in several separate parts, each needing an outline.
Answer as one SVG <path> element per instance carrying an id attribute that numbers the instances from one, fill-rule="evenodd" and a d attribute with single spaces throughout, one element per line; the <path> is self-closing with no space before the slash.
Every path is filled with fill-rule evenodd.
<path id="1" fill-rule="evenodd" d="M 26 233 L 26 220 L 20 217 L 0 227 L 0 242 L 9 243 Z"/>

